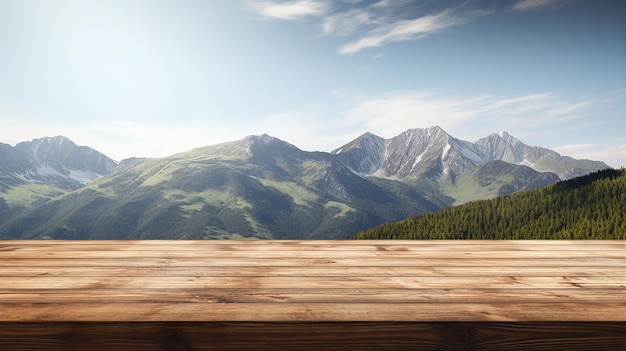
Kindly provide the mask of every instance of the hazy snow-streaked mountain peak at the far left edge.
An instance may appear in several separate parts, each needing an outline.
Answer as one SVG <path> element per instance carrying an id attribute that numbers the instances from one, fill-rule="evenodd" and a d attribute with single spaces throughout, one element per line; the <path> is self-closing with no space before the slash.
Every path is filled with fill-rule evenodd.
<path id="1" fill-rule="evenodd" d="M 116 162 L 87 146 L 77 146 L 62 137 L 0 145 L 0 179 L 5 183 L 26 182 L 78 188 L 109 174 Z"/>

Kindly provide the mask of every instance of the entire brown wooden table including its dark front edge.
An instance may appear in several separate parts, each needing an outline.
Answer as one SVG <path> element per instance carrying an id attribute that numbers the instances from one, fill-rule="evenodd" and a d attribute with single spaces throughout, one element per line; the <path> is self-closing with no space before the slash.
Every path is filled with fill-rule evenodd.
<path id="1" fill-rule="evenodd" d="M 626 350 L 624 241 L 0 241 L 2 350 Z"/>

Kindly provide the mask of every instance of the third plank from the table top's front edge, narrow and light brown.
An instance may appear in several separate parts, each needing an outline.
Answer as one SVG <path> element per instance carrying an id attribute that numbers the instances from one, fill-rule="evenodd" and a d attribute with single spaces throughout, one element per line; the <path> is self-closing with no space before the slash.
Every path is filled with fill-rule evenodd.
<path id="1" fill-rule="evenodd" d="M 0 277 L 6 290 L 29 289 L 581 289 L 626 288 L 626 277 Z"/>

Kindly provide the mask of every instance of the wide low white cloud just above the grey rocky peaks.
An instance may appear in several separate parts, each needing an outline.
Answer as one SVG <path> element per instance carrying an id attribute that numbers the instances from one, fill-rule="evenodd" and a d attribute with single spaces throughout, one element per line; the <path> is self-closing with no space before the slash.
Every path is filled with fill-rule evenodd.
<path id="1" fill-rule="evenodd" d="M 578 97 L 577 97 L 578 98 Z M 345 122 L 384 137 L 410 126 L 439 125 L 463 132 L 463 137 L 482 137 L 497 130 L 549 128 L 576 120 L 593 106 L 591 99 L 572 103 L 554 93 L 513 98 L 491 95 L 446 97 L 433 91 L 401 91 L 361 100 L 345 114 Z"/>

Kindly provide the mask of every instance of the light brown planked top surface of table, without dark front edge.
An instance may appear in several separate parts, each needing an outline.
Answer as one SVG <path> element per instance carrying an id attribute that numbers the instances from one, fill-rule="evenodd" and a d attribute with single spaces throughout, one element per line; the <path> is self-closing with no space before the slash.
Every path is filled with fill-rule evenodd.
<path id="1" fill-rule="evenodd" d="M 0 241 L 0 322 L 626 321 L 624 241 Z"/>

